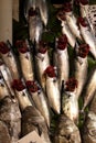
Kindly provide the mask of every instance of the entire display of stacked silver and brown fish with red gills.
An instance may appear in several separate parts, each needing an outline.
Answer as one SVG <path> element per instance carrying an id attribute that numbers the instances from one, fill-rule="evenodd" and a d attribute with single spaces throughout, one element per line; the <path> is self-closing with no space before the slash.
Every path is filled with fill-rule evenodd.
<path id="1" fill-rule="evenodd" d="M 18 40 L 17 55 L 9 41 L 0 42 L 1 143 L 15 143 L 32 131 L 51 143 L 52 113 L 58 116 L 54 143 L 96 143 L 96 37 L 86 16 L 88 1 L 79 0 L 79 18 L 68 2 L 58 11 L 62 34 L 55 40 L 53 62 L 42 40 L 49 18 L 46 1 L 26 0 L 25 6 L 32 44 Z M 95 63 L 90 73 L 88 56 Z M 90 103 L 83 134 L 78 130 L 79 98 L 84 100 L 82 113 Z"/>

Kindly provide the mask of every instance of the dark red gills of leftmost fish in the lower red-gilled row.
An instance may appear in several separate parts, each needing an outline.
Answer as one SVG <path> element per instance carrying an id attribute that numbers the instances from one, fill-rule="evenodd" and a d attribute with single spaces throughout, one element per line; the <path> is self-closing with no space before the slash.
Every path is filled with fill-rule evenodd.
<path id="1" fill-rule="evenodd" d="M 18 91 L 22 91 L 23 89 L 25 89 L 24 84 L 20 80 L 20 79 L 14 79 L 11 84 L 12 88 L 18 90 Z"/>

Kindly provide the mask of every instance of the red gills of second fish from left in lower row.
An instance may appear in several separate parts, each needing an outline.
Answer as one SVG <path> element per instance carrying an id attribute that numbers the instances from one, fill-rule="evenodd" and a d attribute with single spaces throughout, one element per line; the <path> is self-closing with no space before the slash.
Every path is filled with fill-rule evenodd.
<path id="1" fill-rule="evenodd" d="M 31 92 L 36 92 L 39 90 L 38 84 L 34 80 L 28 80 L 25 85 Z"/>

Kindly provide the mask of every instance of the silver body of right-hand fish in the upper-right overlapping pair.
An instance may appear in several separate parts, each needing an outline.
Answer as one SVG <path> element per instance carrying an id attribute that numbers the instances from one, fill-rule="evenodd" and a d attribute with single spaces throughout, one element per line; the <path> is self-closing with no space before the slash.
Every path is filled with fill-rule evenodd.
<path id="1" fill-rule="evenodd" d="M 78 37 L 79 40 L 82 40 L 82 36 L 81 36 L 81 32 L 78 30 L 78 26 L 76 24 L 77 20 L 76 18 L 74 16 L 74 14 L 72 12 L 66 12 L 65 13 L 65 18 L 66 18 L 66 22 L 72 31 L 72 33 Z"/>

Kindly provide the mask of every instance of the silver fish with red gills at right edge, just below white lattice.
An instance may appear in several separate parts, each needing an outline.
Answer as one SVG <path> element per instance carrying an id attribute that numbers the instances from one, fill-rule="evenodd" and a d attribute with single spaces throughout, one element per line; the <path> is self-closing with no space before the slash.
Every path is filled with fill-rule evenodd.
<path id="1" fill-rule="evenodd" d="M 94 34 L 92 33 L 86 19 L 84 18 L 78 18 L 78 24 L 79 24 L 79 30 L 82 33 L 82 36 L 85 41 L 85 43 L 87 43 L 89 45 L 89 51 L 92 53 L 92 55 L 94 56 L 94 58 L 96 59 L 96 41 L 94 37 Z"/>

